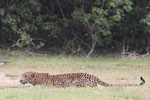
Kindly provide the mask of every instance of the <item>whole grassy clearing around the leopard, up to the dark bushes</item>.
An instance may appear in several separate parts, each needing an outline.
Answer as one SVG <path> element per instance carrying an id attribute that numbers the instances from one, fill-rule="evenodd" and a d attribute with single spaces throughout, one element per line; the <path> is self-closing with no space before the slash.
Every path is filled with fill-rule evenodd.
<path id="1" fill-rule="evenodd" d="M 0 90 L 0 100 L 150 100 L 150 82 L 148 81 L 150 58 L 131 60 L 119 57 L 31 57 L 19 54 L 5 57 L 10 63 L 0 67 L 0 72 L 10 78 L 19 77 L 26 71 L 50 74 L 86 72 L 113 84 L 139 83 L 140 76 L 143 76 L 147 83 L 141 87 L 52 88 L 36 86 L 3 89 Z"/>

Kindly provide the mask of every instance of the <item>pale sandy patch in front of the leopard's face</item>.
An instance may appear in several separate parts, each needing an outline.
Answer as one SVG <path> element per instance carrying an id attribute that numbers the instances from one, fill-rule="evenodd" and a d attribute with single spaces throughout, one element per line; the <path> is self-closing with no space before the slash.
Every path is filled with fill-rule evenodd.
<path id="1" fill-rule="evenodd" d="M 0 86 L 18 85 L 19 79 L 19 77 L 6 77 L 3 72 L 0 72 Z"/>

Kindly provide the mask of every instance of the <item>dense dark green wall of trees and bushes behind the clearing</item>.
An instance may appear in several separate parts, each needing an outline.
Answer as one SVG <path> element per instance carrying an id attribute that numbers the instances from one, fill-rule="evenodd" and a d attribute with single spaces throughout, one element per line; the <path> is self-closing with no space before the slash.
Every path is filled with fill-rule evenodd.
<path id="1" fill-rule="evenodd" d="M 0 47 L 52 49 L 72 53 L 148 52 L 150 1 L 1 0 Z M 63 50 L 62 50 L 63 49 Z"/>

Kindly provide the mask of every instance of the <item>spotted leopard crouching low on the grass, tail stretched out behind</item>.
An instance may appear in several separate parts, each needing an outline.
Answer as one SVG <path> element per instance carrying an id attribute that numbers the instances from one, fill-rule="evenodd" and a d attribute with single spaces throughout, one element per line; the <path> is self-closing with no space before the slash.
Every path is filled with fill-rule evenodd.
<path id="1" fill-rule="evenodd" d="M 98 77 L 87 73 L 66 73 L 51 75 L 49 73 L 39 72 L 25 72 L 21 75 L 21 84 L 32 84 L 51 86 L 51 87 L 96 87 L 102 85 L 104 87 L 110 86 L 141 86 L 145 84 L 145 79 L 140 78 L 139 84 L 108 84 Z"/>

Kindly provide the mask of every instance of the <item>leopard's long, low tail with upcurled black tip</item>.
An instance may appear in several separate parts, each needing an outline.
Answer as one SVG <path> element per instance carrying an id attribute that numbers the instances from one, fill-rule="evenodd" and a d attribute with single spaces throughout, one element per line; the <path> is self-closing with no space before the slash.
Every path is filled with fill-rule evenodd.
<path id="1" fill-rule="evenodd" d="M 141 86 L 141 85 L 144 85 L 146 82 L 145 79 L 143 77 L 141 77 L 140 79 L 141 79 L 140 84 L 108 84 L 108 83 L 105 83 L 101 80 L 99 80 L 98 83 L 102 86 L 105 86 L 105 87 L 110 87 L 110 86 Z"/>

